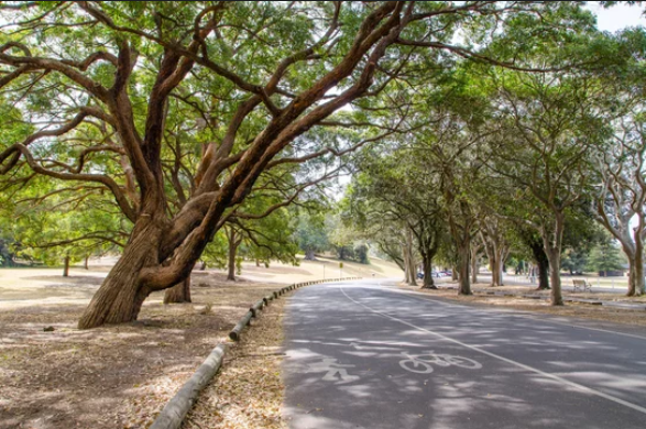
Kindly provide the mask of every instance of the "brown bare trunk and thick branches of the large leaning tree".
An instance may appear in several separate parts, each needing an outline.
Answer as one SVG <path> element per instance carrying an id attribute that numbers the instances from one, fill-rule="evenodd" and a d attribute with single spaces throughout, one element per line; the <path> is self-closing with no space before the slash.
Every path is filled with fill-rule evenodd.
<path id="1" fill-rule="evenodd" d="M 103 24 L 112 25 L 109 19 L 91 4 L 84 3 L 83 8 Z M 374 9 L 365 18 L 348 53 L 333 69 L 297 95 L 283 109 L 273 107 L 270 96 L 276 91 L 286 68 L 295 62 L 303 61 L 302 56 L 307 59 L 308 55 L 314 54 L 314 48 L 285 59 L 265 87 L 256 87 L 247 85 L 236 74 L 221 72 L 217 64 L 199 57 L 197 51 L 201 46 L 201 40 L 212 30 L 198 32 L 187 47 L 177 44 L 173 48 L 165 48 L 147 99 L 143 138 L 135 127 L 132 103 L 127 92 L 129 77 L 135 64 L 135 53 L 128 42 L 120 42 L 112 88 L 95 85 L 91 79 L 74 72 L 73 78 L 80 79 L 80 85 L 91 90 L 107 106 L 111 124 L 119 134 L 141 196 L 141 201 L 129 204 L 113 180 L 109 182 L 102 176 L 91 177 L 112 190 L 122 210 L 135 223 L 135 228 L 122 257 L 81 316 L 79 328 L 135 320 L 151 292 L 169 288 L 187 278 L 207 243 L 222 228 L 226 210 L 244 200 L 272 160 L 294 139 L 370 88 L 379 61 L 384 56 L 386 47 L 397 41 L 399 32 L 405 26 L 401 21 L 403 8 L 403 3 L 388 2 Z M 215 25 L 207 28 L 213 29 Z M 168 95 L 190 72 L 194 62 L 200 63 L 205 68 L 215 69 L 218 74 L 227 75 L 239 88 L 252 96 L 239 106 L 221 144 L 217 148 L 212 146 L 209 156 L 205 155 L 202 158 L 204 162 L 196 173 L 196 177 L 199 178 L 196 182 L 199 185 L 180 212 L 171 220 L 163 218 L 167 205 L 161 141 L 165 130 Z M 57 64 L 56 67 L 63 68 L 62 64 Z M 357 75 L 357 81 L 352 86 L 335 99 L 310 109 L 330 88 L 352 74 Z M 243 153 L 232 154 L 238 130 L 261 103 L 272 112 L 273 119 Z M 220 174 L 225 170 L 229 170 L 230 174 L 222 180 Z M 89 175 L 63 177 L 62 174 L 57 174 L 55 177 L 84 179 Z M 236 245 L 231 246 L 230 256 L 234 254 L 236 249 Z M 234 257 L 230 257 L 229 262 L 229 277 L 233 277 Z"/>

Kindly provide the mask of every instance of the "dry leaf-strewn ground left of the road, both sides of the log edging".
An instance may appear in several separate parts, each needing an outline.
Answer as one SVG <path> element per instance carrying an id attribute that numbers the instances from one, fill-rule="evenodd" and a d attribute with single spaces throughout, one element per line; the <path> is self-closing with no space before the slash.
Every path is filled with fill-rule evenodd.
<path id="1" fill-rule="evenodd" d="M 77 320 L 110 270 L 109 262 L 94 261 L 89 271 L 73 268 L 67 278 L 59 268 L 0 270 L 0 428 L 146 427 L 211 349 L 228 341 L 229 330 L 249 306 L 270 290 L 322 278 L 324 266 L 326 278 L 399 275 L 396 266 L 379 260 L 371 265 L 344 262 L 340 271 L 330 258 L 300 266 L 272 263 L 269 268 L 245 263 L 236 283 L 226 282 L 221 271 L 194 272 L 193 304 L 164 306 L 158 293 L 146 300 L 134 323 L 79 331 Z M 278 305 L 270 307 L 233 346 L 229 369 L 216 385 L 223 395 L 205 395 L 188 428 L 213 427 L 215 421 L 222 428 L 282 427 L 275 354 L 282 341 L 281 317 Z M 247 382 L 264 387 L 252 388 Z M 244 406 L 236 396 L 241 392 L 251 400 Z"/>

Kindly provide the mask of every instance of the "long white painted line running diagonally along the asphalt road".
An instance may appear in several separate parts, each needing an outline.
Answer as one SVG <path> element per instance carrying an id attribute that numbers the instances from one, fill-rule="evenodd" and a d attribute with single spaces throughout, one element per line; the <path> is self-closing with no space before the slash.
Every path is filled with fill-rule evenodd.
<path id="1" fill-rule="evenodd" d="M 488 352 L 486 350 L 483 350 L 483 349 L 481 349 L 481 348 L 479 348 L 479 346 L 467 344 L 467 343 L 464 343 L 464 342 L 461 342 L 461 341 L 459 341 L 459 340 L 455 340 L 455 339 L 452 339 L 452 338 L 450 338 L 450 337 L 447 337 L 447 336 L 444 336 L 444 334 L 441 334 L 441 333 L 434 332 L 434 331 L 430 331 L 430 330 L 428 330 L 428 329 L 425 329 L 425 328 L 418 327 L 418 326 L 416 326 L 416 324 L 413 324 L 413 323 L 410 323 L 410 322 L 407 322 L 406 320 L 403 320 L 403 319 L 396 318 L 396 317 L 394 317 L 394 316 L 390 316 L 390 315 L 386 315 L 386 314 L 384 314 L 384 312 L 381 312 L 381 311 L 379 311 L 379 310 L 375 310 L 375 309 L 373 309 L 373 308 L 371 308 L 371 307 L 366 306 L 365 304 L 362 304 L 362 302 L 360 302 L 360 301 L 357 301 L 355 299 L 352 299 L 352 297 L 350 297 L 350 296 L 349 296 L 349 295 L 346 293 L 346 290 L 343 289 L 343 287 L 342 287 L 342 286 L 339 286 L 339 289 L 340 289 L 340 290 L 341 290 L 341 293 L 342 293 L 342 294 L 346 296 L 346 298 L 348 298 L 348 299 L 349 299 L 349 300 L 351 300 L 352 302 L 354 302 L 354 304 L 357 304 L 357 305 L 359 305 L 359 306 L 361 306 L 361 307 L 365 308 L 366 310 L 369 310 L 369 311 L 371 311 L 371 312 L 373 312 L 373 314 L 375 314 L 375 315 L 377 315 L 377 316 L 381 316 L 381 317 L 383 317 L 383 318 L 386 318 L 386 319 L 391 319 L 391 320 L 397 321 L 397 322 L 399 322 L 399 323 L 402 323 L 402 324 L 406 324 L 406 326 L 408 326 L 408 327 L 410 327 L 410 328 L 417 329 L 418 331 L 426 332 L 426 333 L 429 333 L 429 334 L 431 334 L 431 336 L 435 336 L 435 337 L 441 338 L 441 339 L 444 339 L 444 340 L 446 340 L 446 341 L 449 341 L 449 342 L 452 342 L 452 343 L 455 343 L 455 344 L 461 345 L 461 346 L 463 346 L 463 348 L 467 348 L 467 349 L 473 350 L 473 351 L 475 351 L 475 352 L 482 353 L 482 354 L 484 354 L 484 355 L 488 355 L 488 356 L 490 356 L 490 358 L 497 359 L 499 361 L 503 361 L 503 362 L 510 363 L 510 364 L 512 364 L 512 365 L 514 365 L 514 366 L 518 366 L 518 367 L 521 367 L 521 369 L 523 369 L 523 370 L 526 370 L 526 371 L 533 372 L 533 373 L 535 373 L 535 374 L 543 375 L 544 377 L 551 378 L 551 380 L 554 380 L 554 381 L 557 381 L 557 382 L 559 382 L 559 383 L 561 383 L 561 384 L 563 384 L 563 385 L 567 385 L 567 386 L 573 387 L 573 388 L 576 388 L 576 389 L 578 389 L 578 391 L 580 391 L 580 392 L 584 392 L 584 393 L 588 393 L 588 394 L 591 394 L 591 395 L 594 395 L 594 396 L 599 396 L 599 397 L 602 397 L 602 398 L 604 398 L 604 399 L 611 400 L 611 402 L 613 402 L 613 403 L 615 403 L 615 404 L 623 405 L 624 407 L 632 408 L 632 409 L 634 409 L 634 410 L 636 410 L 636 411 L 639 411 L 639 413 L 642 413 L 642 414 L 646 414 L 646 408 L 644 408 L 644 407 L 640 407 L 640 406 L 638 406 L 638 405 L 636 405 L 636 404 L 628 403 L 627 400 L 620 399 L 620 398 L 617 398 L 617 397 L 615 397 L 615 396 L 612 396 L 612 395 L 605 394 L 605 393 L 603 393 L 603 392 L 600 392 L 600 391 L 595 391 L 595 389 L 593 389 L 593 388 L 591 388 L 591 387 L 588 387 L 588 386 L 583 386 L 582 384 L 574 383 L 574 382 L 570 382 L 569 380 L 567 380 L 567 378 L 563 378 L 563 377 L 560 377 L 560 376 L 558 376 L 558 375 L 550 374 L 550 373 L 546 373 L 546 372 L 544 372 L 544 371 L 540 371 L 540 370 L 538 370 L 538 369 L 535 369 L 535 367 L 533 367 L 533 366 L 526 365 L 526 364 L 524 364 L 524 363 L 516 362 L 516 361 L 514 361 L 514 360 L 511 360 L 511 359 L 507 359 L 507 358 L 501 356 L 501 355 L 499 355 L 499 354 L 495 354 L 495 353 L 492 353 L 492 352 Z"/>

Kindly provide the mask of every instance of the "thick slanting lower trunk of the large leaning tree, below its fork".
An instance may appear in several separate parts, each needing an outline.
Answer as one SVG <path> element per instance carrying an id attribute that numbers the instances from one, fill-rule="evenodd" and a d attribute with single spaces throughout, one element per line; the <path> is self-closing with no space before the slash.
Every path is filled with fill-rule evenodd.
<path id="1" fill-rule="evenodd" d="M 158 266 L 160 223 L 150 217 L 140 218 L 122 256 L 80 317 L 79 329 L 136 320 L 143 301 L 153 290 L 142 284 L 140 274 L 146 266 Z"/>

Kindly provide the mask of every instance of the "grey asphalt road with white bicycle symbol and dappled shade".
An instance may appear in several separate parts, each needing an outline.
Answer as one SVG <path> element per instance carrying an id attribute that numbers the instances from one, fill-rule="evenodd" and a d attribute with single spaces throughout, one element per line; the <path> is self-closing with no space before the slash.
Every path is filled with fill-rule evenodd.
<path id="1" fill-rule="evenodd" d="M 646 427 L 646 332 L 377 280 L 309 286 L 287 310 L 293 429 Z"/>

